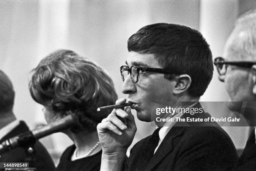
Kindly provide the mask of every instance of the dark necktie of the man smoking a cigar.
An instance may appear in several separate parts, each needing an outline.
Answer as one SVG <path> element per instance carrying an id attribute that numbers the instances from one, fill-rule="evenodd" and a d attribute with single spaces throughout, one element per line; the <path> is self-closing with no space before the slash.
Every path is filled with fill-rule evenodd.
<path id="1" fill-rule="evenodd" d="M 138 161 L 138 171 L 142 171 L 146 169 L 148 166 L 149 161 L 154 156 L 154 151 L 159 143 L 159 130 L 161 128 L 157 128 L 153 134 L 151 135 L 148 142 L 145 144 L 141 151 L 141 156 Z"/>

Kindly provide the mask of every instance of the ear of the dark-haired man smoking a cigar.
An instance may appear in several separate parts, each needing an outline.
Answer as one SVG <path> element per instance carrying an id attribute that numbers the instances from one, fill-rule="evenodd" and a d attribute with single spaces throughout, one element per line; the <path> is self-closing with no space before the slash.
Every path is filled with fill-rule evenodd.
<path id="1" fill-rule="evenodd" d="M 176 81 L 174 86 L 173 93 L 181 94 L 185 92 L 191 85 L 191 77 L 188 74 L 177 75 L 173 77 L 173 80 Z"/>

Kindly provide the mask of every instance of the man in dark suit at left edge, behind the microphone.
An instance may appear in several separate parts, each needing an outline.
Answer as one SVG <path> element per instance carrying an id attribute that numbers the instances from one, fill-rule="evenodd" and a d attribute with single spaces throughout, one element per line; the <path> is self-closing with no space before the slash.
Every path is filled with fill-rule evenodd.
<path id="1" fill-rule="evenodd" d="M 29 131 L 26 123 L 24 121 L 18 121 L 13 114 L 14 95 L 15 93 L 10 79 L 0 70 L 0 143 L 13 136 Z M 1 154 L 0 162 L 31 161 L 29 167 L 35 167 L 38 171 L 54 170 L 54 163 L 44 146 L 37 141 L 33 147 L 34 153 L 31 154 L 27 153 L 26 149 L 23 148 L 12 149 Z"/>

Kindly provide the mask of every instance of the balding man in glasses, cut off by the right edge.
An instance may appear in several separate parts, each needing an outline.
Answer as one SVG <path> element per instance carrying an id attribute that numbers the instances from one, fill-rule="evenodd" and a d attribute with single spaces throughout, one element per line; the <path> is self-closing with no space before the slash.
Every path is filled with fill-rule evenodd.
<path id="1" fill-rule="evenodd" d="M 243 111 L 241 114 L 244 114 L 248 123 L 256 126 L 256 10 L 238 18 L 226 42 L 223 58 L 217 57 L 215 65 L 219 79 L 225 83 L 230 97 L 228 108 Z M 246 106 L 243 102 L 246 102 Z M 256 170 L 255 134 L 253 129 L 238 161 L 237 170 Z"/>

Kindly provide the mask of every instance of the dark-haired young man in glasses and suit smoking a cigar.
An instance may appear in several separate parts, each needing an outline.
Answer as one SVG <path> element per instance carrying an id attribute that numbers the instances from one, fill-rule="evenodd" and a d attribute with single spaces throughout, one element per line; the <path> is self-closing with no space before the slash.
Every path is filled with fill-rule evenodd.
<path id="1" fill-rule="evenodd" d="M 190 111 L 202 110 L 198 100 L 212 79 L 213 64 L 209 45 L 200 32 L 183 25 L 147 25 L 129 38 L 128 51 L 126 65 L 120 71 L 122 92 L 128 94 L 132 105 L 125 110 L 114 109 L 97 126 L 102 145 L 101 169 L 230 170 L 236 162 L 236 149 L 218 124 L 195 122 L 195 126 L 186 126 L 174 120 L 161 127 L 163 123 L 157 121 L 161 115 L 152 114 L 156 104 L 184 107 L 180 102 L 193 102 L 186 106 Z M 116 104 L 125 101 L 119 99 Z M 160 127 L 135 144 L 125 161 L 136 132 L 131 109 L 136 110 L 139 120 L 155 121 Z M 176 114 L 181 119 L 210 117 L 203 110 L 197 114 Z"/>

